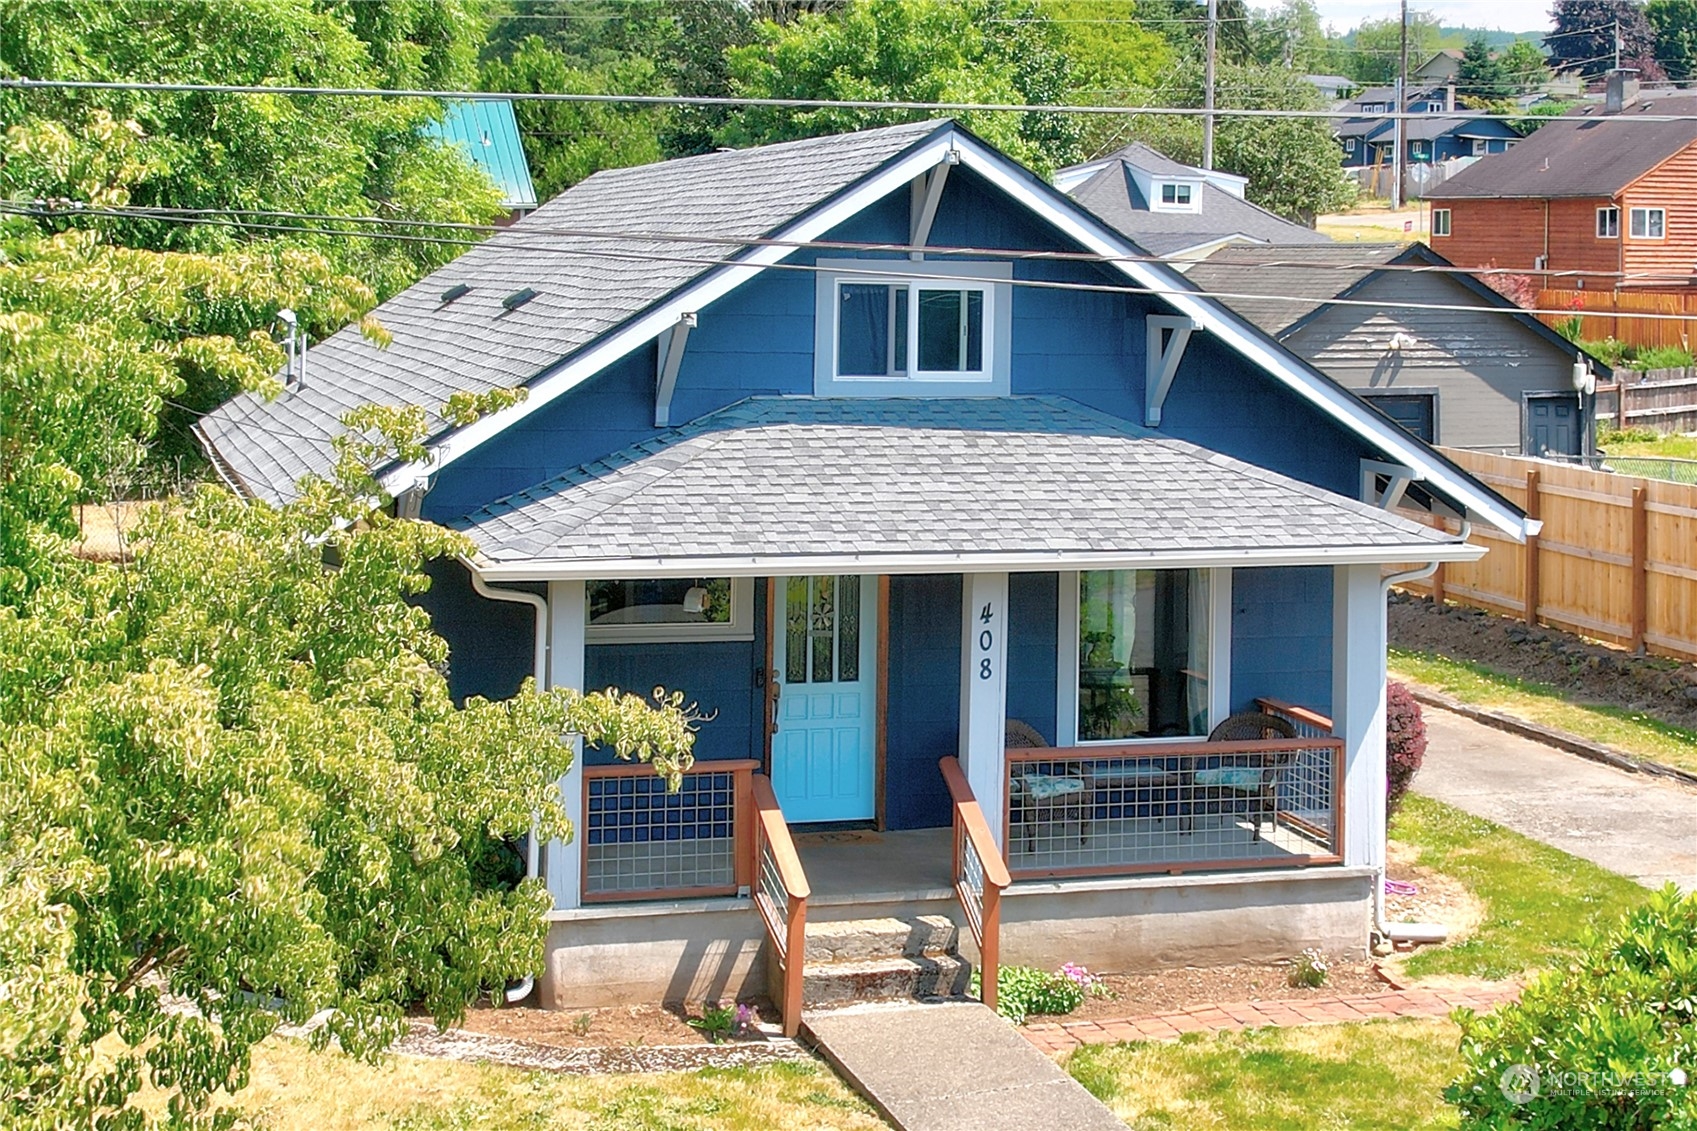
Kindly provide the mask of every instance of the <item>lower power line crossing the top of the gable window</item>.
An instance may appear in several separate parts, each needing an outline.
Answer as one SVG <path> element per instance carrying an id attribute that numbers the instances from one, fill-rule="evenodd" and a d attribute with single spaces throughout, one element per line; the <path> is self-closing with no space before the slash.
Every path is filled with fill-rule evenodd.
<path id="1" fill-rule="evenodd" d="M 19 205 L 10 204 L 10 202 L 0 202 L 0 214 L 39 216 L 39 211 L 31 211 L 29 207 L 19 207 Z M 216 228 L 241 228 L 241 229 L 255 229 L 255 231 L 304 233 L 304 234 L 324 234 L 324 236 L 343 236 L 343 238 L 350 238 L 351 236 L 351 238 L 361 238 L 361 239 L 389 239 L 389 241 L 397 241 L 397 243 L 431 243 L 431 245 L 465 246 L 465 248 L 473 248 L 473 246 L 479 246 L 482 243 L 479 239 L 455 239 L 455 238 L 450 238 L 450 236 L 412 236 L 412 234 L 387 233 L 387 231 L 361 233 L 361 231 L 346 231 L 346 229 L 333 229 L 333 228 L 304 228 L 304 226 L 290 226 L 290 224 L 261 224 L 261 222 L 248 222 L 248 221 L 238 221 L 238 219 L 216 219 L 216 217 L 207 217 L 207 219 L 195 219 L 195 217 L 156 217 L 156 219 L 161 219 L 163 222 L 209 224 L 209 226 L 216 226 Z M 735 258 L 691 256 L 691 255 L 677 255 L 677 253 L 665 253 L 665 251 L 636 251 L 636 250 L 621 250 L 621 248 L 548 248 L 548 246 L 540 246 L 540 248 L 529 248 L 529 251 L 545 251 L 545 253 L 553 253 L 553 255 L 580 255 L 580 256 L 589 256 L 589 258 L 609 258 L 609 260 L 623 260 L 623 262 L 636 262 L 636 263 L 679 263 L 679 265 L 704 267 L 704 268 L 720 268 L 720 267 L 745 265 L 745 267 L 757 267 L 759 270 L 791 270 L 791 272 L 804 272 L 804 273 L 837 273 L 840 270 L 840 268 L 835 268 L 835 267 L 820 267 L 816 263 L 759 263 L 759 265 L 755 265 L 755 263 L 740 263 Z M 1522 273 L 1529 273 L 1529 272 L 1505 272 L 1505 273 L 1522 275 Z M 1222 299 L 1222 301 L 1230 301 L 1230 299 L 1256 299 L 1256 301 L 1274 301 L 1274 302 L 1300 302 L 1300 304 L 1305 304 L 1305 306 L 1312 306 L 1312 304 L 1317 302 L 1317 299 L 1313 299 L 1313 297 L 1303 297 L 1303 295 L 1242 292 L 1242 290 L 1208 290 L 1208 289 L 1190 289 L 1190 287 L 1139 287 L 1139 285 L 1122 285 L 1122 284 L 1076 284 L 1076 282 L 1059 282 L 1059 280 L 1047 280 L 1047 279 L 1011 279 L 1010 280 L 1010 279 L 971 277 L 971 275 L 952 275 L 952 273 L 945 275 L 945 273 L 937 273 L 937 272 L 927 273 L 923 262 L 921 263 L 911 263 L 911 262 L 905 263 L 903 265 L 903 277 L 905 279 L 937 280 L 937 282 L 957 282 L 957 284 L 959 282 L 974 282 L 974 284 L 986 284 L 986 285 L 1013 285 L 1013 287 L 1025 287 L 1025 289 L 1030 289 L 1030 290 L 1071 290 L 1071 292 L 1088 292 L 1088 294 L 1129 294 L 1129 295 L 1154 295 L 1154 297 L 1166 297 L 1166 299 L 1171 299 L 1171 297 L 1200 297 L 1200 299 Z M 1324 304 L 1324 306 L 1369 307 L 1369 309 L 1376 309 L 1376 311 L 1393 309 L 1393 311 L 1487 312 L 1487 314 L 1509 314 L 1509 316 L 1517 316 L 1517 314 L 1551 314 L 1551 316 L 1556 316 L 1556 318 L 1571 318 L 1575 312 L 1583 314 L 1583 311 L 1571 311 L 1571 309 L 1481 307 L 1481 306 L 1454 304 L 1454 302 L 1375 302 L 1371 299 L 1344 299 L 1344 297 L 1324 297 L 1324 299 L 1319 299 L 1319 302 Z M 1227 306 L 1230 306 L 1230 304 L 1227 302 Z M 1634 314 L 1634 318 L 1646 318 L 1646 319 L 1651 319 L 1651 321 L 1690 321 L 1689 314 Z"/>

